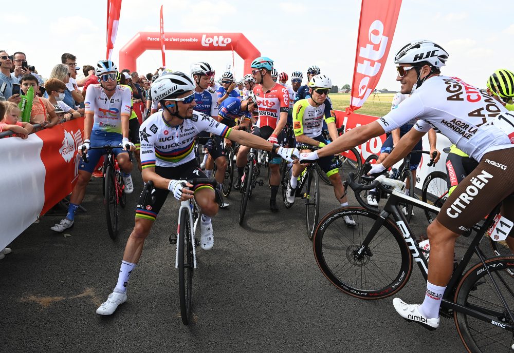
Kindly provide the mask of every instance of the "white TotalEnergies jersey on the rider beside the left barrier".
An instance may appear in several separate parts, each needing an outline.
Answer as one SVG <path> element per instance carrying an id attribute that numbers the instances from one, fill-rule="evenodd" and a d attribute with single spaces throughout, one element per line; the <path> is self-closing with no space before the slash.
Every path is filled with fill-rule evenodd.
<path id="1" fill-rule="evenodd" d="M 89 85 L 84 100 L 85 113 L 94 114 L 93 130 L 121 133 L 121 116 L 130 116 L 132 94 L 126 87 L 116 86 L 108 98 L 100 84 Z"/>

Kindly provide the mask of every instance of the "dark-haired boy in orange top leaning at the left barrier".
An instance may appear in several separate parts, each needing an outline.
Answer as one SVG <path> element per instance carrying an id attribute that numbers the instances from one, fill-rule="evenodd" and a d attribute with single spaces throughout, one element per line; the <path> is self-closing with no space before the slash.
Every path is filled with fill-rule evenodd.
<path id="1" fill-rule="evenodd" d="M 20 81 L 20 90 L 24 94 L 27 94 L 27 90 L 30 87 L 34 87 L 34 92 L 39 90 L 38 79 L 32 74 L 23 75 L 22 81 Z M 52 127 L 59 122 L 59 118 L 54 112 L 56 108 L 46 98 L 39 97 L 34 94 L 32 100 L 32 110 L 30 111 L 30 122 L 32 124 L 41 124 L 41 127 Z M 50 121 L 47 120 L 47 116 L 50 117 Z"/>

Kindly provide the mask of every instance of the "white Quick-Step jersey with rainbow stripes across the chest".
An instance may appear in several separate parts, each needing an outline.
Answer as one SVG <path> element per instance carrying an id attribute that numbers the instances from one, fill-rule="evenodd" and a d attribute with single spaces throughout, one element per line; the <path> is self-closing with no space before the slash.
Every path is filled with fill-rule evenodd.
<path id="1" fill-rule="evenodd" d="M 195 158 L 196 135 L 202 131 L 228 138 L 232 131 L 227 125 L 212 117 L 193 111 L 190 119 L 177 126 L 168 125 L 163 111 L 146 119 L 139 127 L 141 140 L 141 168 L 176 167 Z"/>

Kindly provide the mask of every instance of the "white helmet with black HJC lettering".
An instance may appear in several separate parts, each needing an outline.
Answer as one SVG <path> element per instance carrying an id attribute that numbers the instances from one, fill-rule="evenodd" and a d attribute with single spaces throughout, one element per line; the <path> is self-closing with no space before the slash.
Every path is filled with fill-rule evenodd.
<path id="1" fill-rule="evenodd" d="M 403 46 L 394 57 L 394 63 L 399 65 L 426 62 L 438 69 L 446 65 L 448 56 L 450 55 L 434 42 L 419 40 Z"/>

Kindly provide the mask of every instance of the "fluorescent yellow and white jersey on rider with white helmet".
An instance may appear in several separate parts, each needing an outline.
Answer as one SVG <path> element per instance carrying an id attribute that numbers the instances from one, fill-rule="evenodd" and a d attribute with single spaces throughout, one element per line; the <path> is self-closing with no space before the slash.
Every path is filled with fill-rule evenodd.
<path id="1" fill-rule="evenodd" d="M 319 107 L 310 105 L 308 100 L 300 100 L 292 107 L 292 126 L 295 136 L 305 134 L 309 138 L 316 138 L 323 130 L 323 118 L 326 123 L 335 123 L 336 116 L 333 110 L 325 104 Z"/>

